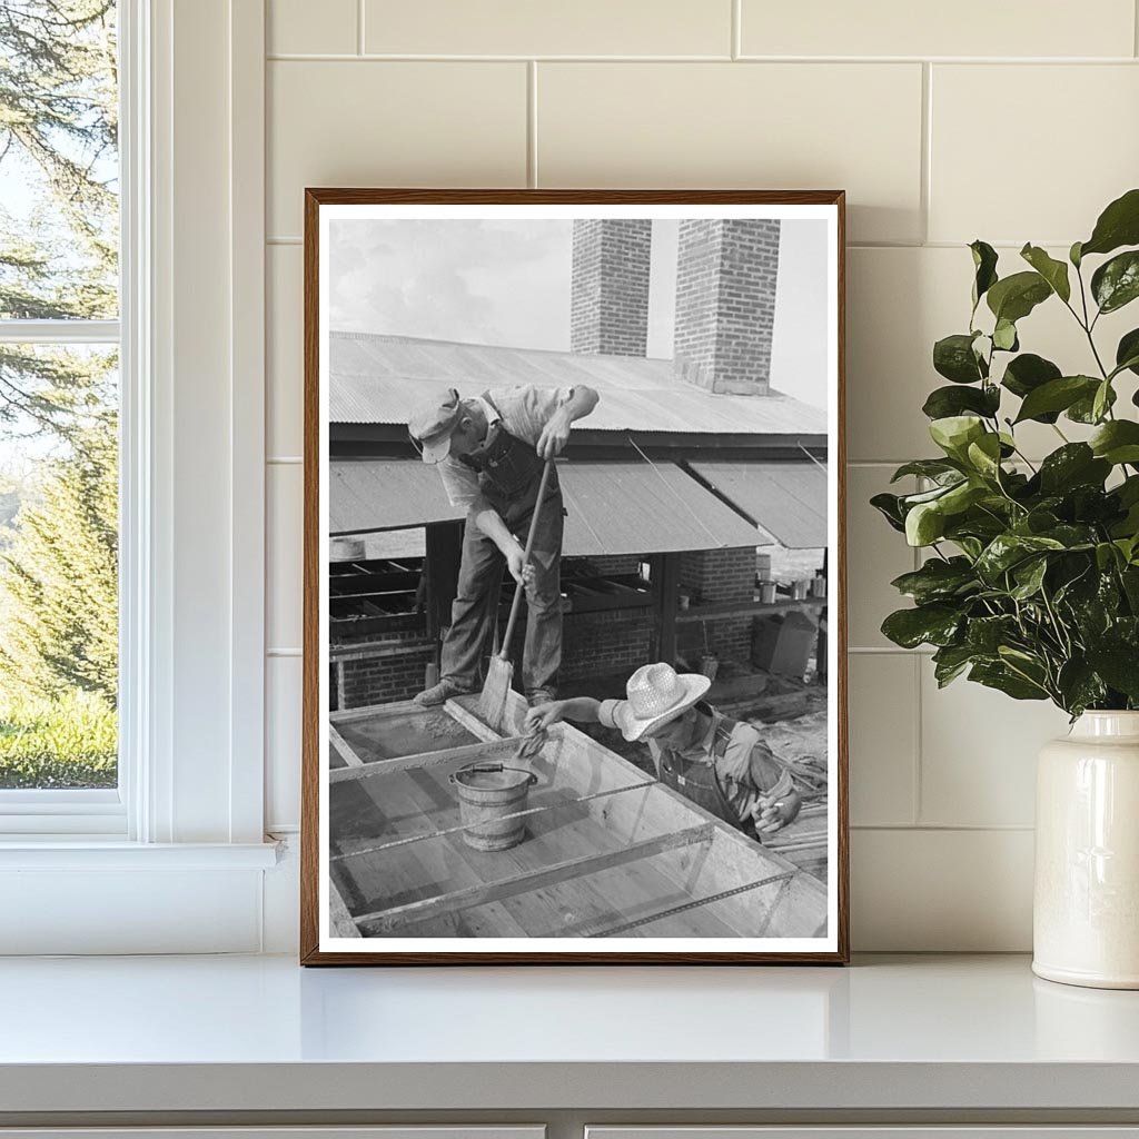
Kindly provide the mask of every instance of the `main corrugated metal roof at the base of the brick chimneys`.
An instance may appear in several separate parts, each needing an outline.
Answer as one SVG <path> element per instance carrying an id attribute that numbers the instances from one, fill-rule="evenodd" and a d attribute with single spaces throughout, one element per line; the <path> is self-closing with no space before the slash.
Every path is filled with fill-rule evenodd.
<path id="1" fill-rule="evenodd" d="M 540 352 L 366 333 L 329 336 L 331 423 L 402 424 L 409 409 L 449 387 L 588 384 L 601 399 L 591 431 L 822 435 L 827 415 L 788 395 L 715 395 L 677 379 L 671 360 Z"/>

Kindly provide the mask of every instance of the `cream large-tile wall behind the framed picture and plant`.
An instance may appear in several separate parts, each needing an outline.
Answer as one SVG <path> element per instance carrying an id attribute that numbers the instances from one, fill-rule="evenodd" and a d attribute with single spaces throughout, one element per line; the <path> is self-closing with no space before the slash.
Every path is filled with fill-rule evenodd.
<path id="1" fill-rule="evenodd" d="M 915 562 L 866 499 L 926 450 L 964 243 L 1066 248 L 1139 183 L 1134 0 L 267 2 L 271 829 L 298 813 L 303 188 L 844 187 L 854 948 L 1027 949 L 1032 762 L 1064 716 L 939 691 L 888 645 Z M 1083 360 L 1050 306 L 1022 337 Z"/>

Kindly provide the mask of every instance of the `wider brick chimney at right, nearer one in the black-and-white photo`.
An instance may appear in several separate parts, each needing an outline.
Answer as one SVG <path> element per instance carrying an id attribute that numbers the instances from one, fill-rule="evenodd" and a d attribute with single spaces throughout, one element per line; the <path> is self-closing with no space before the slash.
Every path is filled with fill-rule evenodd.
<path id="1" fill-rule="evenodd" d="M 767 395 L 779 222 L 687 219 L 677 261 L 677 374 L 736 395 Z"/>

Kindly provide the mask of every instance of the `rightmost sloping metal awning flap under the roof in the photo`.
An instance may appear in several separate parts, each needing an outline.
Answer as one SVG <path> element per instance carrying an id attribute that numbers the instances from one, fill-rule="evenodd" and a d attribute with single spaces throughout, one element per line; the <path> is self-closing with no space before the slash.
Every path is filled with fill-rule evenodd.
<path id="1" fill-rule="evenodd" d="M 690 464 L 710 486 L 793 550 L 827 544 L 827 473 L 809 459 Z"/>

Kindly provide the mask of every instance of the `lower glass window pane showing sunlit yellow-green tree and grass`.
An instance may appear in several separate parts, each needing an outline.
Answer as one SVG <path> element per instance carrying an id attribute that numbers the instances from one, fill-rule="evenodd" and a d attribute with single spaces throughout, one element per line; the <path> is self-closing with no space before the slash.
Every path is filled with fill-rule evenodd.
<path id="1" fill-rule="evenodd" d="M 0 789 L 116 785 L 116 357 L 0 344 Z"/>

